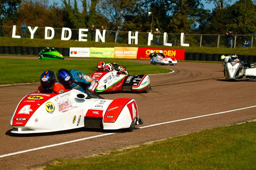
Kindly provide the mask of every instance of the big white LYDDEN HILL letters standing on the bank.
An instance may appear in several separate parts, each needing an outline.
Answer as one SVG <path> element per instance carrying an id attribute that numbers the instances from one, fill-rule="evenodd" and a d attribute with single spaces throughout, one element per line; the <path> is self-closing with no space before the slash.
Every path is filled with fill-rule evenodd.
<path id="1" fill-rule="evenodd" d="M 30 26 L 28 26 L 28 29 L 31 34 L 30 38 L 33 39 L 34 34 L 35 34 L 36 30 L 38 29 L 38 27 L 35 27 L 34 29 L 32 29 Z M 68 37 L 65 37 L 66 31 L 69 32 Z M 51 32 L 50 35 L 48 34 L 49 32 Z M 88 29 L 79 28 L 78 41 L 87 41 L 87 39 L 85 39 L 88 36 L 87 32 L 88 32 Z M 135 44 L 138 44 L 138 33 L 139 33 L 138 31 L 135 31 L 135 35 L 132 36 L 131 31 L 128 32 L 128 44 L 131 44 L 132 39 L 135 40 Z M 55 31 L 52 27 L 45 27 L 45 39 L 53 39 L 54 34 L 55 34 Z M 71 32 L 70 28 L 65 28 L 65 27 L 62 28 L 61 40 L 70 40 L 71 35 L 72 35 L 72 32 Z M 102 31 L 102 34 L 99 29 L 96 29 L 95 42 L 98 42 L 98 40 L 100 39 L 102 41 L 102 43 L 105 43 L 105 35 L 106 35 L 105 29 Z M 148 34 L 148 45 L 149 46 L 151 45 L 151 41 L 153 40 L 153 35 L 154 34 L 151 34 L 151 33 Z M 13 25 L 13 27 L 12 27 L 12 38 L 21 38 L 20 35 L 16 35 L 16 25 Z M 181 33 L 180 45 L 188 47 L 189 44 L 185 44 L 183 41 L 184 41 L 184 33 Z M 167 43 L 167 33 L 164 33 L 164 44 L 163 45 L 164 46 L 172 46 L 171 43 Z"/>

